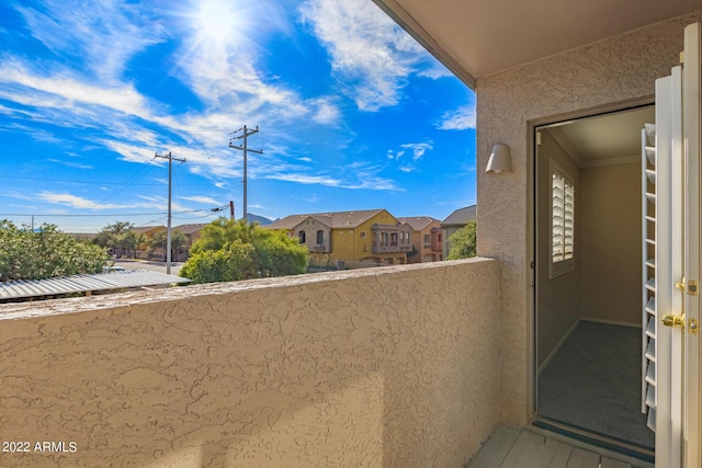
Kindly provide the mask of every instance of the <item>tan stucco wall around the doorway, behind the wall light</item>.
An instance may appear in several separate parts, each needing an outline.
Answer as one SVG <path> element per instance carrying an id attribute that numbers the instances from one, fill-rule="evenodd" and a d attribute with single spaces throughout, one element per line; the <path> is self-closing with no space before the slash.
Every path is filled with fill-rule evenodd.
<path id="1" fill-rule="evenodd" d="M 702 11 L 584 46 L 477 81 L 478 254 L 502 261 L 502 418 L 529 416 L 532 364 L 530 126 L 650 100 L 669 75 L 683 28 Z M 490 148 L 507 144 L 512 172 L 485 174 Z"/>

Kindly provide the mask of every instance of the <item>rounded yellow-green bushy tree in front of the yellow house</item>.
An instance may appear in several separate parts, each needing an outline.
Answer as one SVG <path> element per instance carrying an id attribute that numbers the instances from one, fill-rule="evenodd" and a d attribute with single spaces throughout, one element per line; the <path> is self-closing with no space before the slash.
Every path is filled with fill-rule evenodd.
<path id="1" fill-rule="evenodd" d="M 202 229 L 181 276 L 195 283 L 284 276 L 307 271 L 307 248 L 285 231 L 219 218 Z M 204 279 L 204 281 L 201 281 Z"/>

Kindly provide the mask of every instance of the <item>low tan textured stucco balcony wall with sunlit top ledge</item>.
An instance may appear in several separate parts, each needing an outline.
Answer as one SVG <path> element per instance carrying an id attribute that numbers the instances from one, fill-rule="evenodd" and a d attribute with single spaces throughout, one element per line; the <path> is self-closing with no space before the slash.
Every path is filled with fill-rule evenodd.
<path id="1" fill-rule="evenodd" d="M 499 421 L 492 260 L 0 306 L 0 466 L 460 467 Z M 56 447 L 55 447 L 56 448 Z"/>

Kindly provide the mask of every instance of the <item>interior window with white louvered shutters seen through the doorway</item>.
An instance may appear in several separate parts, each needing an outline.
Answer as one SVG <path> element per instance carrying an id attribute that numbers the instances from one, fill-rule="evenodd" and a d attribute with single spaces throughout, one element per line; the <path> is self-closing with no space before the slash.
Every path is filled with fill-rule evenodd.
<path id="1" fill-rule="evenodd" d="M 574 270 L 575 183 L 551 161 L 551 277 Z"/>

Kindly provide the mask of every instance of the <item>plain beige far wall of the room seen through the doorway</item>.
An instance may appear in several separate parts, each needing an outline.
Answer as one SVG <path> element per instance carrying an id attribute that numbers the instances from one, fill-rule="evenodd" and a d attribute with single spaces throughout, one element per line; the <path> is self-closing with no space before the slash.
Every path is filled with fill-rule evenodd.
<path id="1" fill-rule="evenodd" d="M 641 327 L 641 164 L 580 170 L 580 315 Z"/>

